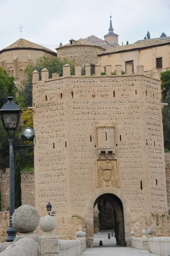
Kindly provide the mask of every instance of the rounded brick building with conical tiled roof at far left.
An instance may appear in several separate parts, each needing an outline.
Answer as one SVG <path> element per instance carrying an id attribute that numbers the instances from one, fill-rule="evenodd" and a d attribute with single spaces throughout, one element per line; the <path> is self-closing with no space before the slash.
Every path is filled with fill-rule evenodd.
<path id="1" fill-rule="evenodd" d="M 38 44 L 20 38 L 5 49 L 0 50 L 0 66 L 9 76 L 16 78 L 17 86 L 25 79 L 25 70 L 29 63 L 35 64 L 41 56 L 56 56 L 56 52 Z"/>

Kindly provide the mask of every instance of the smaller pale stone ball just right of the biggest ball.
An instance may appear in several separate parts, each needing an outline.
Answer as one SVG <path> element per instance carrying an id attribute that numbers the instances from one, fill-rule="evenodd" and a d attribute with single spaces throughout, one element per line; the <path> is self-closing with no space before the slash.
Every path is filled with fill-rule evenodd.
<path id="1" fill-rule="evenodd" d="M 40 220 L 40 229 L 44 232 L 53 231 L 56 227 L 56 220 L 50 215 L 46 215 Z"/>

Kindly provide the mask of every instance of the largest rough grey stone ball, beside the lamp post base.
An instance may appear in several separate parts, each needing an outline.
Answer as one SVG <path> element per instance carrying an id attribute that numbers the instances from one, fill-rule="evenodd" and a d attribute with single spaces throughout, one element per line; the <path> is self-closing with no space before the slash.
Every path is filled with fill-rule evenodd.
<path id="1" fill-rule="evenodd" d="M 20 233 L 34 231 L 38 227 L 39 222 L 39 212 L 31 205 L 22 205 L 18 207 L 12 215 L 13 227 Z"/>

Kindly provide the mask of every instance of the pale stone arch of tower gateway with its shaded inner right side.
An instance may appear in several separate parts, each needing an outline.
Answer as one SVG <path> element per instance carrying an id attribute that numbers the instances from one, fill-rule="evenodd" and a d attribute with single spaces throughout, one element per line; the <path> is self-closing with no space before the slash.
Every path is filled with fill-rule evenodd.
<path id="1" fill-rule="evenodd" d="M 102 199 L 108 201 L 115 212 L 115 237 L 117 244 L 121 246 L 130 245 L 130 225 L 131 213 L 130 204 L 121 189 L 117 188 L 101 188 L 98 189 L 89 199 L 87 204 L 86 224 L 89 227 L 89 246 L 92 247 L 94 235 L 93 208 Z"/>

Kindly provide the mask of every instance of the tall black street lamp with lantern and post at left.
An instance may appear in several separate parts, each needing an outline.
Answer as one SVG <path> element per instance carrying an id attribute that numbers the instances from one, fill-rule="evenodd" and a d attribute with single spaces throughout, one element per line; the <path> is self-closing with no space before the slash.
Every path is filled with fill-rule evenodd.
<path id="1" fill-rule="evenodd" d="M 0 109 L 0 117 L 3 123 L 3 128 L 8 132 L 9 136 L 9 168 L 10 168 L 10 210 L 9 210 L 9 228 L 6 231 L 8 237 L 6 241 L 14 241 L 16 236 L 16 230 L 12 226 L 12 215 L 14 213 L 14 134 L 19 128 L 20 118 L 22 111 L 17 107 L 12 99 L 13 97 L 8 97 L 8 102 L 3 105 Z M 9 131 L 13 131 L 12 135 Z"/>

